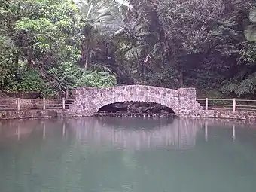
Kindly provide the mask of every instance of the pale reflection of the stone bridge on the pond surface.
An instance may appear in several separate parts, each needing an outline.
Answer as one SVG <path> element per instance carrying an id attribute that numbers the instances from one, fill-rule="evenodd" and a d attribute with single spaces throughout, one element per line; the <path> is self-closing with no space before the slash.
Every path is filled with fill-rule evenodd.
<path id="1" fill-rule="evenodd" d="M 117 124 L 123 122 L 123 126 Z M 75 130 L 76 137 L 81 142 L 95 142 L 99 145 L 116 145 L 120 148 L 192 148 L 196 143 L 197 133 L 201 129 L 198 120 L 174 119 L 157 121 L 146 119 L 139 126 L 125 123 L 122 119 L 106 118 L 87 120 L 69 120 L 69 126 Z M 134 120 L 134 119 L 133 119 Z M 152 125 L 153 123 L 153 125 Z M 155 124 L 154 124 L 155 123 Z"/>

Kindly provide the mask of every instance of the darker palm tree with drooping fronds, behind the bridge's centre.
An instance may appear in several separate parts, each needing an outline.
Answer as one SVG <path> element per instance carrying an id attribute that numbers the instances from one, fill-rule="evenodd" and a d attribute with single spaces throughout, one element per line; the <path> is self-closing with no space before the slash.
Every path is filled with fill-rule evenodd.
<path id="1" fill-rule="evenodd" d="M 130 12 L 130 15 L 127 13 Z M 135 11 L 123 11 L 123 27 L 114 33 L 115 36 L 123 38 L 120 44 L 119 52 L 123 53 L 126 58 L 136 59 L 142 79 L 145 74 L 145 65 L 151 59 L 162 56 L 164 65 L 164 52 L 166 44 L 164 35 L 161 34 L 160 23 L 156 23 L 150 18 L 155 16 L 154 6 L 151 4 L 139 4 Z M 156 16 L 157 17 L 157 16 Z"/>

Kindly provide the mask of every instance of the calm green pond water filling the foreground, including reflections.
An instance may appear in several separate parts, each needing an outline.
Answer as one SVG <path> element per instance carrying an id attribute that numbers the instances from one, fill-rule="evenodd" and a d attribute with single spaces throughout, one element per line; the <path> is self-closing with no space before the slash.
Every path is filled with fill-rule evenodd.
<path id="1" fill-rule="evenodd" d="M 0 122 L 1 192 L 254 192 L 256 126 L 187 118 Z"/>

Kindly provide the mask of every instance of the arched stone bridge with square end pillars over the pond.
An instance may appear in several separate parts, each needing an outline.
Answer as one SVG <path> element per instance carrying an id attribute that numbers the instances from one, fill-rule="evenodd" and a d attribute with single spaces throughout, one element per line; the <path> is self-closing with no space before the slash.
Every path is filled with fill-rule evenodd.
<path id="1" fill-rule="evenodd" d="M 126 85 L 108 88 L 78 88 L 75 102 L 69 110 L 73 116 L 93 116 L 100 108 L 115 102 L 154 102 L 171 108 L 179 117 L 197 117 L 200 104 L 194 88 L 177 90 L 145 85 Z"/>

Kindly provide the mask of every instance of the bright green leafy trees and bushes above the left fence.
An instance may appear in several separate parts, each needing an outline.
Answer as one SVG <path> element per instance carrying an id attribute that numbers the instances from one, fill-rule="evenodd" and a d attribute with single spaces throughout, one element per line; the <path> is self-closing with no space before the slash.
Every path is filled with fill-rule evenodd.
<path id="1" fill-rule="evenodd" d="M 56 81 L 50 82 L 49 75 L 54 72 L 59 78 L 66 71 L 76 77 L 69 87 L 116 84 L 113 75 L 82 72 L 78 67 L 85 24 L 74 2 L 6 0 L 0 2 L 0 19 L 1 90 L 53 93 Z M 70 77 L 63 76 L 60 81 L 66 78 Z"/>

